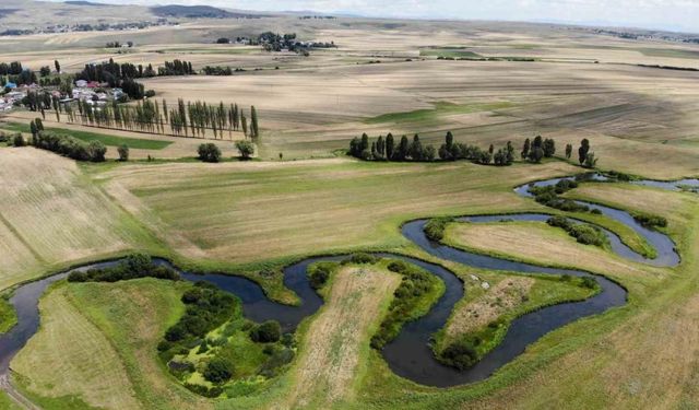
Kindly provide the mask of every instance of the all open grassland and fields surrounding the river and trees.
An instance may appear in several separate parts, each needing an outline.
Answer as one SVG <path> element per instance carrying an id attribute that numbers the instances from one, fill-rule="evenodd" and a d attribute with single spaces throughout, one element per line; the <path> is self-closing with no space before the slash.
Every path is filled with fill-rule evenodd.
<path id="1" fill-rule="evenodd" d="M 36 22 L 55 8 L 37 11 Z M 122 12 L 114 8 L 114 17 Z M 334 40 L 337 47 L 305 58 L 213 44 L 221 36 L 265 30 Z M 256 105 L 259 156 L 229 161 L 237 155 L 234 142 L 215 141 L 228 161 L 204 164 L 192 159 L 202 139 L 59 124 L 49 113 L 47 128 L 105 142 L 109 161 L 78 164 L 34 148 L 0 147 L 0 332 L 14 324 L 5 297 L 16 285 L 131 251 L 166 257 L 191 271 L 246 276 L 270 298 L 296 303 L 283 285 L 285 265 L 312 255 L 384 250 L 441 263 L 464 282 L 464 298 L 437 335 L 439 348 L 483 333 L 494 320 L 508 324 L 595 290 L 577 280 L 440 260 L 402 236 L 404 222 L 564 214 L 513 188 L 580 173 L 561 154 L 567 143 L 577 148 L 582 138 L 590 140 L 601 169 L 656 179 L 699 175 L 696 72 L 638 66 L 699 68 L 695 45 L 556 25 L 296 16 L 202 19 L 119 33 L 119 40 L 137 44 L 123 54 L 105 48 L 114 35 L 0 36 L 0 59 L 38 69 L 59 56 L 67 72 L 109 58 L 156 67 L 179 58 L 197 69 L 242 68 L 230 77 L 143 83 L 171 103 L 182 97 L 237 102 L 246 109 Z M 513 56 L 533 61 L 507 61 Z M 0 114 L 0 129 L 26 132 L 34 117 L 26 110 Z M 496 167 L 360 162 L 339 154 L 363 132 L 372 140 L 388 132 L 419 133 L 424 144 L 438 147 L 448 130 L 455 141 L 484 149 L 512 141 L 517 152 L 525 138 L 542 134 L 556 140 L 557 157 Z M 139 161 L 112 161 L 121 143 Z M 147 156 L 156 161 L 141 161 Z M 154 279 L 54 285 L 39 303 L 40 330 L 12 362 L 12 382 L 47 409 L 699 407 L 699 197 L 612 183 L 582 184 L 565 197 L 666 218 L 662 231 L 676 243 L 682 263 L 631 262 L 544 223 L 450 224 L 445 242 L 451 246 L 584 269 L 628 290 L 627 305 L 546 335 L 483 382 L 441 389 L 390 371 L 369 345 L 401 281 L 381 265 L 350 265 L 333 273 L 322 290 L 325 304 L 296 332 L 298 353 L 291 368 L 260 389 L 248 389 L 247 382 L 256 380 L 244 380 L 227 389 L 227 397 L 205 399 L 169 374 L 157 344 L 183 315 L 181 296 L 189 284 Z M 654 251 L 606 216 L 570 215 L 617 233 L 638 253 Z M 503 330 L 489 335 L 489 347 Z M 238 341 L 241 350 L 249 348 L 248 340 Z M 245 370 L 254 363 L 240 362 Z M 0 408 L 11 403 L 0 391 Z"/>

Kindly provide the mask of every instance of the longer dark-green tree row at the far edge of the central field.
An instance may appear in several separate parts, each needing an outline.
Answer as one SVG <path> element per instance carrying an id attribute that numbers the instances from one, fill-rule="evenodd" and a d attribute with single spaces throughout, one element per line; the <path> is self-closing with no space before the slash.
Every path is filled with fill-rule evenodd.
<path id="1" fill-rule="evenodd" d="M 451 132 L 447 132 L 446 141 L 439 150 L 435 150 L 433 145 L 423 145 L 417 134 L 412 142 L 403 136 L 396 144 L 391 133 L 386 139 L 381 136 L 371 143 L 364 133 L 362 138 L 350 141 L 348 154 L 364 161 L 433 162 L 438 155 L 441 161 L 470 160 L 484 165 L 511 165 L 514 161 L 514 148 L 510 142 L 497 152 L 494 145 L 482 150 L 476 145 L 454 142 Z"/>

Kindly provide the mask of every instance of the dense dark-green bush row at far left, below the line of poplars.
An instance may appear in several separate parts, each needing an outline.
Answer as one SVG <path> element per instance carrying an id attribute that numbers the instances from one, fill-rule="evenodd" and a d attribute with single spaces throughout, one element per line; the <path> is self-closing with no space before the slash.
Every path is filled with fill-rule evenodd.
<path id="1" fill-rule="evenodd" d="M 104 162 L 107 148 L 102 141 L 85 142 L 74 137 L 39 129 L 32 137 L 36 148 L 56 152 L 75 161 Z"/>

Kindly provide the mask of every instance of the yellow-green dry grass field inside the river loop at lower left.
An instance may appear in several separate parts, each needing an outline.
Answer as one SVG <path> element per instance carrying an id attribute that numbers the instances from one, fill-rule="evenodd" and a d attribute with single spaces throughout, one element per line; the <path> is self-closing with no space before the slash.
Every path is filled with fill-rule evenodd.
<path id="1" fill-rule="evenodd" d="M 105 409 L 140 408 L 109 340 L 70 302 L 66 286 L 39 303 L 42 331 L 12 362 L 27 388 L 46 397 L 80 396 Z"/>

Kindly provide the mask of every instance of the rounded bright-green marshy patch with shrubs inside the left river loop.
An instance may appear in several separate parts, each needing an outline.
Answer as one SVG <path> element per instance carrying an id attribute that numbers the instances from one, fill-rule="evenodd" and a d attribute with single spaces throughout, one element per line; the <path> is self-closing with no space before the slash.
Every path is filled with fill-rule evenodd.
<path id="1" fill-rule="evenodd" d="M 181 302 L 185 315 L 165 332 L 158 351 L 170 373 L 198 395 L 257 389 L 295 356 L 294 338 L 277 321 L 245 319 L 240 301 L 213 284 L 194 283 Z"/>

